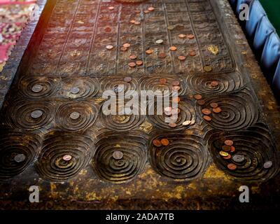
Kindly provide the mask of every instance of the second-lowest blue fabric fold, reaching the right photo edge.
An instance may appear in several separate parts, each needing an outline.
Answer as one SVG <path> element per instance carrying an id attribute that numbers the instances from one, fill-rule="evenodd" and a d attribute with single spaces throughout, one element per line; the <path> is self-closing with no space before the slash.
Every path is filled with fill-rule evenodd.
<path id="1" fill-rule="evenodd" d="M 260 65 L 269 83 L 272 83 L 279 58 L 280 39 L 276 32 L 272 32 L 265 41 L 265 47 L 260 58 Z"/>

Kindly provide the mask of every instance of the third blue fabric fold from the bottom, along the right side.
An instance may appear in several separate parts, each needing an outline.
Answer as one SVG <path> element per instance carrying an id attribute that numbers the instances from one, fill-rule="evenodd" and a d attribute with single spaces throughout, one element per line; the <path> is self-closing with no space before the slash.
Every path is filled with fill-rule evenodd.
<path id="1" fill-rule="evenodd" d="M 265 41 L 269 34 L 275 31 L 273 25 L 269 22 L 267 16 L 262 17 L 257 29 L 255 30 L 255 37 L 253 39 L 253 50 L 255 55 L 260 58 L 262 55 L 263 47 L 265 46 Z"/>

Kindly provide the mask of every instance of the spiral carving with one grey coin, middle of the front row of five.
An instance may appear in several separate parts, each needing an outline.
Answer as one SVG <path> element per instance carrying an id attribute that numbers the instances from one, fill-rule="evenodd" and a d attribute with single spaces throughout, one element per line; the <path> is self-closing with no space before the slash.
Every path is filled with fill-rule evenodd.
<path id="1" fill-rule="evenodd" d="M 98 176 L 105 181 L 113 183 L 131 181 L 144 169 L 146 151 L 146 139 L 139 133 L 104 133 L 97 142 L 92 165 Z M 115 152 L 122 153 L 123 157 L 114 158 Z"/>

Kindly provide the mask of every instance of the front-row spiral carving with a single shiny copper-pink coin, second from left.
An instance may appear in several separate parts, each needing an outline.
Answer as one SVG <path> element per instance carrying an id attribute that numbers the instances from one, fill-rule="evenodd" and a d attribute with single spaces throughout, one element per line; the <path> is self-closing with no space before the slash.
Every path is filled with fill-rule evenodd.
<path id="1" fill-rule="evenodd" d="M 43 141 L 36 170 L 48 181 L 71 179 L 89 163 L 94 153 L 92 147 L 92 140 L 85 135 L 50 132 Z"/>

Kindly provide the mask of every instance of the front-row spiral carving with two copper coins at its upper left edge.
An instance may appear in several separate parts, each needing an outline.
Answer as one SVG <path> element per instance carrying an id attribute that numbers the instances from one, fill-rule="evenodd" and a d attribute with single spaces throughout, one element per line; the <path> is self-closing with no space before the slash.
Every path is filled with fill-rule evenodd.
<path id="1" fill-rule="evenodd" d="M 153 145 L 154 139 L 167 139 L 169 144 L 156 147 Z M 155 171 L 177 181 L 199 178 L 208 162 L 204 140 L 194 134 L 159 134 L 152 139 L 149 151 Z"/>

